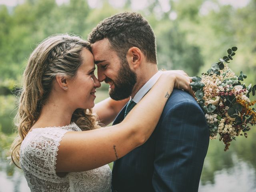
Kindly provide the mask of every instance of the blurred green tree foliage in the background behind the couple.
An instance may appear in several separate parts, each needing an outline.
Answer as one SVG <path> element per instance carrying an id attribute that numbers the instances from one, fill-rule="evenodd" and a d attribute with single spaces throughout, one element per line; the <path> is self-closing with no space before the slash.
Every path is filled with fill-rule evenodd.
<path id="1" fill-rule="evenodd" d="M 24 0 L 15 6 L 0 5 L 1 151 L 8 149 L 14 136 L 12 118 L 16 112 L 16 98 L 12 92 L 21 86 L 26 62 L 36 45 L 57 33 L 79 34 L 86 39 L 104 18 L 134 10 L 149 21 L 156 34 L 158 68 L 182 69 L 190 76 L 200 75 L 226 55 L 228 48 L 237 46 L 230 67 L 237 74 L 240 70 L 247 74 L 246 84 L 255 84 L 256 0 L 65 0 L 64 3 Z M 100 99 L 106 97 L 107 87 L 100 88 Z M 255 129 L 252 136 L 253 133 L 256 136 Z M 250 137 L 250 132 L 248 134 Z M 223 164 L 230 166 L 227 159 L 235 149 L 231 145 L 230 152 L 216 163 L 217 155 L 223 150 L 217 142 L 212 142 L 214 146 L 208 152 L 212 157 L 208 163 L 214 166 L 204 168 L 202 182 L 213 180 L 212 170 L 220 170 Z M 255 153 L 246 153 L 241 142 L 234 144 L 238 156 L 256 162 Z M 248 138 L 246 144 L 249 151 L 256 147 L 253 137 Z M 243 143 L 243 146 L 246 145 Z M 255 163 L 253 165 L 255 169 Z"/>

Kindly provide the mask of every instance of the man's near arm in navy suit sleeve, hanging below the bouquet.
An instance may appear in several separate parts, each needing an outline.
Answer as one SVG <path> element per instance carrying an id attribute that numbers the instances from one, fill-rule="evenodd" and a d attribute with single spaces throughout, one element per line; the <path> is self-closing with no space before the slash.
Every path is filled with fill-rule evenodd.
<path id="1" fill-rule="evenodd" d="M 209 144 L 204 113 L 183 101 L 163 114 L 156 136 L 152 185 L 156 192 L 196 192 Z"/>

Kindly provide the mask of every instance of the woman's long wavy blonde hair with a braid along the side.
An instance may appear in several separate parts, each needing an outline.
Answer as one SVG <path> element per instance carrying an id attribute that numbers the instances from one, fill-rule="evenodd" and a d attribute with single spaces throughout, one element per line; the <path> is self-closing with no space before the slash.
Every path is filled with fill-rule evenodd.
<path id="1" fill-rule="evenodd" d="M 53 35 L 42 41 L 30 55 L 24 71 L 15 126 L 18 137 L 11 146 L 12 162 L 19 167 L 20 145 L 32 125 L 38 120 L 42 104 L 52 90 L 55 76 L 74 78 L 82 63 L 81 50 L 90 44 L 78 36 Z M 91 109 L 77 109 L 71 118 L 82 130 L 98 127 Z"/>

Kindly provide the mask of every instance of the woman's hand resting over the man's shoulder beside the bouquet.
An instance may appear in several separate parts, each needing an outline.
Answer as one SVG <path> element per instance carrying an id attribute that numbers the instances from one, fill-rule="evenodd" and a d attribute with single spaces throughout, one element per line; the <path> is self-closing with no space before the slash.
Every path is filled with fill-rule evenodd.
<path id="1" fill-rule="evenodd" d="M 190 86 L 192 78 L 183 70 L 169 70 L 164 71 L 163 73 L 174 79 L 174 88 L 183 89 L 194 97 L 194 92 Z"/>

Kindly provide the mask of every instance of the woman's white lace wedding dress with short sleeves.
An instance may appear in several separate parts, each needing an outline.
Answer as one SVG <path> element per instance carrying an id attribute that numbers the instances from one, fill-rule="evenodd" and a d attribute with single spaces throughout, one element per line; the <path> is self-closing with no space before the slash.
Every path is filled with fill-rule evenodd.
<path id="1" fill-rule="evenodd" d="M 58 146 L 68 131 L 82 131 L 75 123 L 63 127 L 35 128 L 20 147 L 20 166 L 31 192 L 110 192 L 108 165 L 59 177 L 55 172 Z M 82 153 L 82 152 L 81 152 Z"/>

